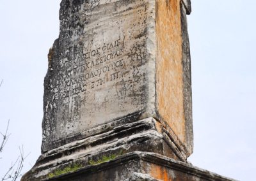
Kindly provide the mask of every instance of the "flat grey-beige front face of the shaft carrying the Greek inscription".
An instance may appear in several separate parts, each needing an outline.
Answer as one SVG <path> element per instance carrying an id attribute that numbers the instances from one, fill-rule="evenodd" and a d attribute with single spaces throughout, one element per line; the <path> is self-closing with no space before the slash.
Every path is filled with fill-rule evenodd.
<path id="1" fill-rule="evenodd" d="M 148 103 L 148 1 L 74 2 L 61 2 L 60 37 L 45 77 L 43 150 Z"/>

